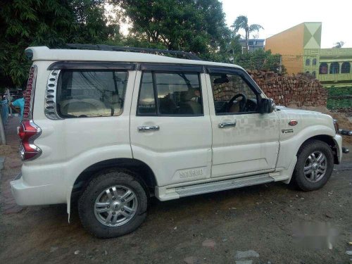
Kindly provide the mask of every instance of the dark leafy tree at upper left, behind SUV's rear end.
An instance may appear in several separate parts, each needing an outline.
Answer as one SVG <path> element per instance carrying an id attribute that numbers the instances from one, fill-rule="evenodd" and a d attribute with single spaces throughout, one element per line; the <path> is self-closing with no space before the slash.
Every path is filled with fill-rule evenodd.
<path id="1" fill-rule="evenodd" d="M 99 44 L 113 36 L 103 0 L 0 1 L 0 87 L 23 87 L 30 61 L 27 46 Z"/>

